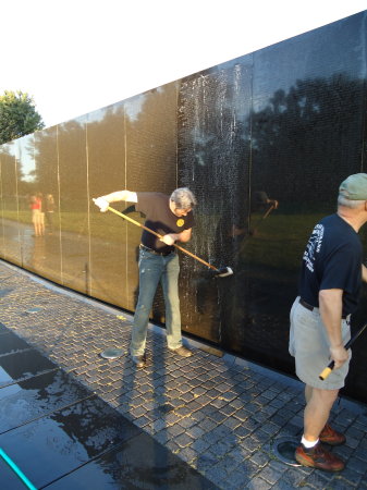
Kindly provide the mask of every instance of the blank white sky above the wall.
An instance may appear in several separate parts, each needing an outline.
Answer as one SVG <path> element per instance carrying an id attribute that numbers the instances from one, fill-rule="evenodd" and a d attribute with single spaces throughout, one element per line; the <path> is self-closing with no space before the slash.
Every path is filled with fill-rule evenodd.
<path id="1" fill-rule="evenodd" d="M 0 0 L 0 95 L 51 126 L 367 10 L 367 0 Z"/>

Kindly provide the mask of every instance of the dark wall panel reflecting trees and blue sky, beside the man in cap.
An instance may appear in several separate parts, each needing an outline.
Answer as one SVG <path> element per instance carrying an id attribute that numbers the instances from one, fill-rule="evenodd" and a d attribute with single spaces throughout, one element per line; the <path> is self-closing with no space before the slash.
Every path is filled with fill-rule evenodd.
<path id="1" fill-rule="evenodd" d="M 245 350 L 260 342 L 274 367 L 293 363 L 289 309 L 308 235 L 334 212 L 339 184 L 366 171 L 365 50 L 363 16 L 352 16 L 254 53 Z"/>

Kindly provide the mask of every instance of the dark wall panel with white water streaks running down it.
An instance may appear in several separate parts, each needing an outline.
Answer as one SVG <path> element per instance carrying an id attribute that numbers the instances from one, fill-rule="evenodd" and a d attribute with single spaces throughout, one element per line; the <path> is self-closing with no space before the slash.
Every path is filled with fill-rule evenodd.
<path id="1" fill-rule="evenodd" d="M 179 179 L 189 183 L 198 206 L 189 245 L 195 255 L 218 268 L 236 270 L 231 279 L 213 274 L 192 258 L 183 258 L 188 287 L 185 328 L 216 343 L 241 345 L 233 314 L 246 309 L 246 297 L 234 292 L 238 280 L 238 242 L 249 215 L 249 126 L 252 57 L 183 81 L 179 99 Z M 186 307 L 186 308 L 185 308 Z"/>

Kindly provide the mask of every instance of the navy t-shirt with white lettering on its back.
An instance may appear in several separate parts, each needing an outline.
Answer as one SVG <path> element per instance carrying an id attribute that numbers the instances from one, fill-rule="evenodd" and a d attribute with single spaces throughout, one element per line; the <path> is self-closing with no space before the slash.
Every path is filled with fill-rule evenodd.
<path id="1" fill-rule="evenodd" d="M 355 311 L 362 284 L 363 248 L 355 230 L 340 216 L 323 218 L 303 256 L 299 295 L 319 306 L 320 290 L 343 290 L 343 315 Z"/>

